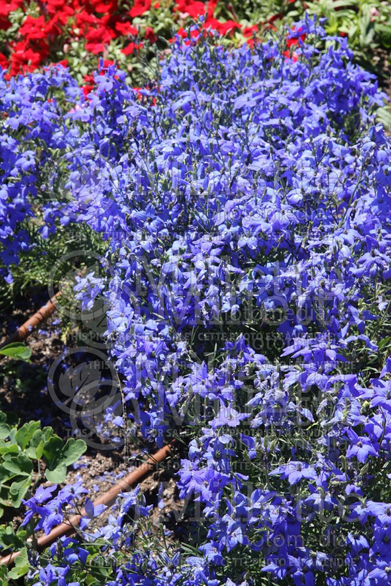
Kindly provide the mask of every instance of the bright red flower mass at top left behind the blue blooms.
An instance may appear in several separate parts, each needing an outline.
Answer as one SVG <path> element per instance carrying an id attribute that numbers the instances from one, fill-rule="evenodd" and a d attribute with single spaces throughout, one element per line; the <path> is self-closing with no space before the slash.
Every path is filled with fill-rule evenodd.
<path id="1" fill-rule="evenodd" d="M 21 71 L 32 71 L 45 63 L 58 62 L 66 57 L 69 45 L 80 42 L 92 54 L 104 54 L 111 40 L 122 38 L 121 52 L 130 55 L 142 45 L 142 40 L 157 42 L 157 35 L 148 18 L 145 25 L 135 27 L 133 19 L 150 11 L 158 11 L 169 3 L 173 5 L 173 21 L 204 17 L 203 27 L 212 28 L 227 35 L 242 25 L 229 20 L 220 22 L 214 18 L 219 0 L 133 0 L 132 8 L 121 11 L 118 0 L 41 0 L 37 4 L 36 16 L 31 13 L 24 19 L 16 36 L 0 52 L 0 66 L 9 67 L 8 77 Z M 23 8 L 23 0 L 3 0 L 0 2 L 0 29 L 11 26 L 11 12 Z M 149 12 L 148 12 L 149 11 Z M 158 17 L 158 15 L 157 15 Z M 244 37 L 252 42 L 253 30 L 257 25 L 243 28 Z M 186 36 L 182 28 L 179 35 Z M 1 49 L 1 47 L 0 47 Z M 85 78 L 87 88 L 91 85 L 89 76 Z"/>

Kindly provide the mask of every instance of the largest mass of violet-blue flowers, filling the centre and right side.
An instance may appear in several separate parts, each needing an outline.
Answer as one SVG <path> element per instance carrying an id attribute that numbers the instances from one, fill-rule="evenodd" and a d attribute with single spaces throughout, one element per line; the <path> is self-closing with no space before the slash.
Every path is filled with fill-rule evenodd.
<path id="1" fill-rule="evenodd" d="M 288 36 L 295 59 L 284 39 L 177 40 L 140 93 L 110 66 L 63 128 L 48 122 L 47 143 L 76 154 L 61 163 L 72 197 L 46 217 L 108 240 L 113 270 L 81 277 L 77 295 L 110 304 L 121 425 L 187 446 L 178 489 L 197 555 L 132 547 L 113 586 L 391 581 L 384 96 L 346 39 L 310 19 Z M 106 548 L 130 546 L 129 507 L 95 535 Z"/>

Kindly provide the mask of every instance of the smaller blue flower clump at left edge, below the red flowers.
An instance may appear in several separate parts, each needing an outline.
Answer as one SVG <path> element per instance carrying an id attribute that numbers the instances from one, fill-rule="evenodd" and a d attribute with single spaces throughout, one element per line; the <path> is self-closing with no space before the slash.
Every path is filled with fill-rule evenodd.
<path id="1" fill-rule="evenodd" d="M 62 101 L 73 103 L 81 90 L 62 66 L 11 81 L 5 73 L 0 70 L 0 275 L 12 282 L 7 267 L 18 264 L 19 254 L 34 246 L 32 224 L 44 237 L 55 230 L 50 212 L 45 226 L 36 222 L 50 201 L 42 169 L 52 163 L 53 153 L 67 148 Z"/>

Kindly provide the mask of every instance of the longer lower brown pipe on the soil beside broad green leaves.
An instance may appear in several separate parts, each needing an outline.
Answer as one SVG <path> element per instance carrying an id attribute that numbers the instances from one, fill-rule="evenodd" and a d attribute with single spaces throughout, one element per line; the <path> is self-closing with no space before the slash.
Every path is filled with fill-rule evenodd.
<path id="1" fill-rule="evenodd" d="M 174 441 L 159 449 L 156 454 L 150 456 L 145 462 L 142 462 L 140 466 L 137 466 L 137 468 L 132 470 L 127 476 L 125 476 L 125 478 L 118 482 L 118 484 L 113 486 L 113 488 L 105 492 L 103 495 L 98 496 L 98 498 L 94 500 L 94 506 L 106 505 L 110 507 L 113 505 L 120 492 L 126 492 L 127 490 L 134 488 L 134 486 L 137 486 L 138 483 L 143 481 L 151 472 L 153 472 L 157 468 L 157 464 L 165 460 L 167 456 L 171 454 L 171 448 L 173 445 Z M 73 515 L 66 523 L 60 523 L 57 527 L 54 527 L 48 535 L 39 537 L 37 540 L 37 550 L 42 551 L 45 547 L 50 546 L 53 541 L 59 539 L 59 537 L 73 533 L 77 529 L 77 526 L 79 526 L 82 516 L 86 516 L 86 511 L 84 509 L 81 510 L 81 515 Z M 20 553 L 20 551 L 14 551 L 8 556 L 0 558 L 0 565 L 12 565 L 15 558 L 18 557 Z"/>

